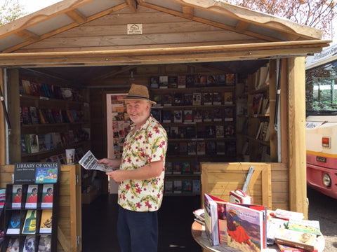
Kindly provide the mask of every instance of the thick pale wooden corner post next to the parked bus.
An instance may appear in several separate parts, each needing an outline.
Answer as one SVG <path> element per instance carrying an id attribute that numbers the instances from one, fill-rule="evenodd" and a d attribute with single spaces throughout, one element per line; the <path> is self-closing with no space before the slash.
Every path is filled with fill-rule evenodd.
<path id="1" fill-rule="evenodd" d="M 305 63 L 289 58 L 289 207 L 308 218 L 305 158 Z"/>

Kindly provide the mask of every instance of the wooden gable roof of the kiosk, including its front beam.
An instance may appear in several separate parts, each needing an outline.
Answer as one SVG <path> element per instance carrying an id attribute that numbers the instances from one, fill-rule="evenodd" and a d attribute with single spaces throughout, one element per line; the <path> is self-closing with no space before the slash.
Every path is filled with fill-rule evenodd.
<path id="1" fill-rule="evenodd" d="M 127 34 L 127 25 L 143 33 Z M 64 0 L 0 27 L 0 66 L 130 65 L 319 52 L 319 29 L 216 0 Z"/>

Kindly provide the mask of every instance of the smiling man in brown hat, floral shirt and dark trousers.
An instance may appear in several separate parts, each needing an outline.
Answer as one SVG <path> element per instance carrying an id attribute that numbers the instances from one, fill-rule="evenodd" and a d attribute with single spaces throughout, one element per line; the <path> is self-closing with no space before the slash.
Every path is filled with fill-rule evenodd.
<path id="1" fill-rule="evenodd" d="M 132 84 L 125 98 L 133 125 L 124 141 L 121 160 L 103 158 L 99 163 L 118 168 L 107 172 L 119 182 L 117 238 L 121 252 L 157 251 L 157 210 L 164 193 L 167 134 L 150 114 L 147 87 Z"/>

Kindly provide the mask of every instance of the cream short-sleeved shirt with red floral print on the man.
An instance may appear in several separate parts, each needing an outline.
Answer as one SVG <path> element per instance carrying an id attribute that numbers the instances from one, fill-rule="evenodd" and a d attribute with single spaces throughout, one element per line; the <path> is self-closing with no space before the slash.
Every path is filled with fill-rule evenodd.
<path id="1" fill-rule="evenodd" d="M 133 130 L 131 125 L 131 131 Z M 119 169 L 138 169 L 150 162 L 164 160 L 159 176 L 119 182 L 118 204 L 131 211 L 157 211 L 164 193 L 167 134 L 152 116 L 134 134 L 126 136 Z"/>

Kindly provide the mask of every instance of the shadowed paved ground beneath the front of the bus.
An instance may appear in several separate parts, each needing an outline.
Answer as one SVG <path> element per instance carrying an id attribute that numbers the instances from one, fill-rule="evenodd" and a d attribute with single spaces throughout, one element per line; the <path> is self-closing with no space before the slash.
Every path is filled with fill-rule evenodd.
<path id="1" fill-rule="evenodd" d="M 308 188 L 309 220 L 319 221 L 325 238 L 324 252 L 337 251 L 337 200 Z"/>

